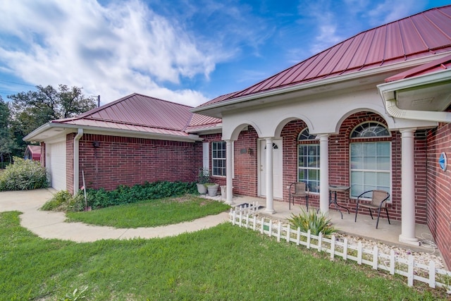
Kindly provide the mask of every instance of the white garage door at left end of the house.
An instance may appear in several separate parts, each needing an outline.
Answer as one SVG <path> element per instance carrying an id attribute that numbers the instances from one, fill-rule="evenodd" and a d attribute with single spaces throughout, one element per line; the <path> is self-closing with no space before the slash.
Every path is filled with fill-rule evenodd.
<path id="1" fill-rule="evenodd" d="M 66 142 L 46 145 L 46 165 L 50 173 L 51 187 L 66 190 Z"/>

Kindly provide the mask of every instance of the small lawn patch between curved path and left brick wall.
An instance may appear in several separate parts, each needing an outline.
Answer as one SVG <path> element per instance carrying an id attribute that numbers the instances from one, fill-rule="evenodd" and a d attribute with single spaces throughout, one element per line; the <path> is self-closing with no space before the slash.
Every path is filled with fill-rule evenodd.
<path id="1" fill-rule="evenodd" d="M 68 221 L 116 228 L 156 227 L 192 221 L 230 209 L 228 204 L 192 195 L 152 199 L 83 212 L 68 212 Z M 114 216 L 114 218 L 111 218 Z"/>

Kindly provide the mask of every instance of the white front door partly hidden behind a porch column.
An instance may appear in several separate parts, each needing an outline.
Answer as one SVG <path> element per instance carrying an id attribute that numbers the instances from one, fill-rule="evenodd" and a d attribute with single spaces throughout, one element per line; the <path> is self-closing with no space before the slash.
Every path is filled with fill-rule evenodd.
<path id="1" fill-rule="evenodd" d="M 283 198 L 282 139 L 273 140 L 273 197 Z M 260 140 L 259 195 L 266 197 L 266 140 Z"/>

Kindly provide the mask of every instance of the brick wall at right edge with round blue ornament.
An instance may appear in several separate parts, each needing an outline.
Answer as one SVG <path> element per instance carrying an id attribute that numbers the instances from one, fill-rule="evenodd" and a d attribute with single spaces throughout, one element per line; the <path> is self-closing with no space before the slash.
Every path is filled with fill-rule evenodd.
<path id="1" fill-rule="evenodd" d="M 451 125 L 440 124 L 428 130 L 427 140 L 427 222 L 448 267 L 451 266 Z M 440 154 L 447 155 L 447 171 L 438 165 Z M 425 185 L 425 183 L 423 183 Z"/>

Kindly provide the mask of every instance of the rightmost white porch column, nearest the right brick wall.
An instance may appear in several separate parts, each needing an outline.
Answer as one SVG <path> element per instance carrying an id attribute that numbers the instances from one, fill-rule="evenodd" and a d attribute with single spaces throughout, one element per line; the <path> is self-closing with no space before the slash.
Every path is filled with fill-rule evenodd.
<path id="1" fill-rule="evenodd" d="M 415 128 L 400 130 L 401 133 L 401 234 L 400 242 L 419 245 L 415 237 Z"/>

